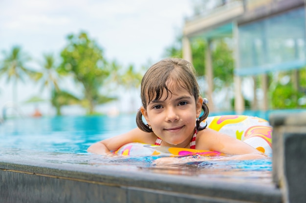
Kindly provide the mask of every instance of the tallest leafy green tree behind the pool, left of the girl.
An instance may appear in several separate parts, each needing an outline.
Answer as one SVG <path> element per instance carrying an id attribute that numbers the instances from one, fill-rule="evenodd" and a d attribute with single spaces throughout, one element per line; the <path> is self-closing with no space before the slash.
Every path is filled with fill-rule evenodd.
<path id="1" fill-rule="evenodd" d="M 62 64 L 59 68 L 61 73 L 72 74 L 75 81 L 83 85 L 83 105 L 87 113 L 94 113 L 94 107 L 100 102 L 107 101 L 101 97 L 100 88 L 106 88 L 104 82 L 110 74 L 109 66 L 103 57 L 103 50 L 98 44 L 89 39 L 87 33 L 69 35 L 68 44 L 61 52 Z"/>

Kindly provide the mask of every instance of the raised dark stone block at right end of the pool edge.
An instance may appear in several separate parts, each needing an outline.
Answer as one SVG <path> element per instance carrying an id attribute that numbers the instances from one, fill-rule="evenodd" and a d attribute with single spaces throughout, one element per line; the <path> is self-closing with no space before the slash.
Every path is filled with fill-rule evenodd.
<path id="1" fill-rule="evenodd" d="M 273 126 L 273 182 L 284 203 L 306 202 L 306 111 L 275 113 Z"/>

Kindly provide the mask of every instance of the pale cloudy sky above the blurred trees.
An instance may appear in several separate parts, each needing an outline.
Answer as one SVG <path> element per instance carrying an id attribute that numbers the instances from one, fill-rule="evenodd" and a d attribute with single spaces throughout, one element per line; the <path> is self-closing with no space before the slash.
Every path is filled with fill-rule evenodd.
<path id="1" fill-rule="evenodd" d="M 43 54 L 59 55 L 68 34 L 86 31 L 109 61 L 137 68 L 162 59 L 166 47 L 180 35 L 185 18 L 192 16 L 191 1 L 0 0 L 0 51 L 20 45 L 34 61 L 42 61 Z M 1 109 L 12 100 L 11 86 L 0 77 Z M 17 90 L 19 104 L 39 93 L 27 82 Z M 47 97 L 45 93 L 41 92 Z"/>

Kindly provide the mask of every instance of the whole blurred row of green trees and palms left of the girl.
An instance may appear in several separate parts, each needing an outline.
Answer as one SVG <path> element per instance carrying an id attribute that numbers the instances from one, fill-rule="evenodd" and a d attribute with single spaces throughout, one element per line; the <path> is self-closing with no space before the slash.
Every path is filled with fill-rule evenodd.
<path id="1" fill-rule="evenodd" d="M 67 45 L 60 53 L 62 62 L 59 66 L 52 54 L 45 54 L 39 72 L 25 66 L 30 57 L 21 51 L 21 47 L 15 46 L 11 52 L 3 54 L 4 60 L 0 61 L 0 76 L 6 76 L 7 82 L 13 80 L 14 90 L 17 81 L 23 80 L 24 76 L 41 83 L 40 91 L 47 88 L 50 92 L 51 104 L 56 108 L 57 115 L 61 114 L 62 106 L 75 104 L 86 108 L 88 114 L 94 114 L 96 105 L 117 99 L 115 96 L 109 96 L 112 87 L 137 88 L 142 78 L 142 74 L 137 72 L 133 65 L 124 69 L 116 61 L 108 63 L 103 57 L 102 48 L 85 32 L 67 36 Z M 82 98 L 61 89 L 59 83 L 64 76 L 72 76 L 76 83 L 82 85 Z M 16 92 L 14 90 L 13 92 Z M 34 96 L 28 99 L 27 103 L 42 101 L 46 100 Z"/>

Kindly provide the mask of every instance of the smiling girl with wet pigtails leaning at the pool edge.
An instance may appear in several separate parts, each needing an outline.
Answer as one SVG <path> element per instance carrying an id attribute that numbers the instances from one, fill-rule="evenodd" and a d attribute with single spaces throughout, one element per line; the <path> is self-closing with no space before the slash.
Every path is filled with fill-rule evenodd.
<path id="1" fill-rule="evenodd" d="M 110 151 L 127 143 L 139 142 L 239 154 L 231 159 L 263 157 L 260 151 L 236 138 L 200 126 L 209 110 L 199 96 L 194 72 L 193 65 L 184 59 L 168 58 L 155 63 L 141 81 L 142 107 L 136 117 L 138 128 L 95 143 L 87 151 L 111 154 Z M 143 123 L 142 116 L 147 124 Z"/>

